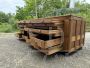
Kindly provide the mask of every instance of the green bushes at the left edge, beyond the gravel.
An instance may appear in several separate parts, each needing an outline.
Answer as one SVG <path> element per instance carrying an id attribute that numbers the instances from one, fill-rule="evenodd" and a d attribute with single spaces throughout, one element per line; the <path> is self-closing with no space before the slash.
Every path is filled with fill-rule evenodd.
<path id="1" fill-rule="evenodd" d="M 16 20 L 10 13 L 0 12 L 0 32 L 14 32 L 17 30 Z"/>

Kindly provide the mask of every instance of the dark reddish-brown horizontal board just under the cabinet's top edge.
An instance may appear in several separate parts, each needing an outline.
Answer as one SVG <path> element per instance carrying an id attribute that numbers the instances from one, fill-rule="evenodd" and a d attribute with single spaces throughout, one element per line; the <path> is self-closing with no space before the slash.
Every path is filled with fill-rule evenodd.
<path id="1" fill-rule="evenodd" d="M 63 23 L 28 23 L 26 25 L 28 28 L 35 28 L 35 29 L 45 29 L 49 30 L 50 28 L 58 29 L 63 27 Z"/>

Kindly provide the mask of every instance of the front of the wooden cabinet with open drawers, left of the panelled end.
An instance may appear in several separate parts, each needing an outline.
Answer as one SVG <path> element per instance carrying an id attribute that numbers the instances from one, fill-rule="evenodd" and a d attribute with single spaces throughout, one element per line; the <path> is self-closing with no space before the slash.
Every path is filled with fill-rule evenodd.
<path id="1" fill-rule="evenodd" d="M 24 39 L 35 49 L 50 55 L 62 50 L 64 42 L 62 26 L 62 23 L 24 21 L 18 23 L 20 32 L 17 35 L 19 39 Z"/>

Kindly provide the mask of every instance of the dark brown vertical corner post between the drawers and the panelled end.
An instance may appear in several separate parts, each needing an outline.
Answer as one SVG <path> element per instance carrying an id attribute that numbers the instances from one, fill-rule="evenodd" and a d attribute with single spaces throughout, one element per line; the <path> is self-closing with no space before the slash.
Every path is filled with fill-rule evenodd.
<path id="1" fill-rule="evenodd" d="M 70 31 L 71 31 L 70 20 L 67 19 L 64 21 L 63 51 L 65 52 L 69 50 L 69 46 L 70 46 Z"/>

